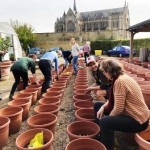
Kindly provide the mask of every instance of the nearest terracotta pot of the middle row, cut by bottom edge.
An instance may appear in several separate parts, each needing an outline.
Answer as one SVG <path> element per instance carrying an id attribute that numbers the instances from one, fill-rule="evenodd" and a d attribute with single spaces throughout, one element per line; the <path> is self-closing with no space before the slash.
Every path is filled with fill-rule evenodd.
<path id="1" fill-rule="evenodd" d="M 65 150 L 107 150 L 99 141 L 91 138 L 80 138 L 71 141 Z"/>

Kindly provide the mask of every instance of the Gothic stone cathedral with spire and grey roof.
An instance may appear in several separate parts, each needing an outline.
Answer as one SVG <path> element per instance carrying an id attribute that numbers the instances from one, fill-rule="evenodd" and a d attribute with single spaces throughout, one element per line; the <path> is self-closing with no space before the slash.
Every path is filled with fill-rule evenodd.
<path id="1" fill-rule="evenodd" d="M 122 38 L 128 39 L 129 32 L 126 29 L 129 26 L 130 17 L 126 2 L 120 8 L 78 12 L 74 0 L 73 9 L 69 8 L 67 13 L 64 12 L 62 17 L 57 18 L 55 32 L 116 31 Z"/>

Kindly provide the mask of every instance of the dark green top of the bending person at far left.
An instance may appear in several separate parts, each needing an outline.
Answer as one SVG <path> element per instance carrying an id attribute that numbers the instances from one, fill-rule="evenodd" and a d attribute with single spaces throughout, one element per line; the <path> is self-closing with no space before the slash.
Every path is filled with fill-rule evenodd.
<path id="1" fill-rule="evenodd" d="M 22 71 L 27 72 L 31 70 L 32 74 L 35 74 L 35 61 L 29 57 L 22 57 L 18 61 L 16 61 L 11 67 L 11 71 Z"/>

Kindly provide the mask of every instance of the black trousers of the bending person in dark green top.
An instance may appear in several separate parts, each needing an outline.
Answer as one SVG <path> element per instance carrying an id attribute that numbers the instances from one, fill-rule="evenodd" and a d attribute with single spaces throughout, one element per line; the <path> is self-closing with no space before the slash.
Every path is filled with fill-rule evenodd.
<path id="1" fill-rule="evenodd" d="M 15 82 L 11 88 L 10 95 L 14 95 L 16 88 L 20 82 L 20 78 L 23 80 L 23 88 L 25 89 L 28 86 L 28 72 L 22 72 L 18 70 L 12 70 Z"/>

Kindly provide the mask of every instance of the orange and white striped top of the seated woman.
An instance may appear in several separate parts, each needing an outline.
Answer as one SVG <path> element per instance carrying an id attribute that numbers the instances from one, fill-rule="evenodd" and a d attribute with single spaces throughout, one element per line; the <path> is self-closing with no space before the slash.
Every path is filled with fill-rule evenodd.
<path id="1" fill-rule="evenodd" d="M 128 115 L 140 124 L 149 118 L 149 109 L 144 101 L 138 83 L 126 74 L 120 75 L 114 83 L 114 108 L 110 115 Z"/>

